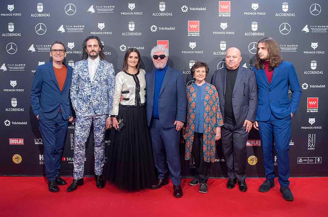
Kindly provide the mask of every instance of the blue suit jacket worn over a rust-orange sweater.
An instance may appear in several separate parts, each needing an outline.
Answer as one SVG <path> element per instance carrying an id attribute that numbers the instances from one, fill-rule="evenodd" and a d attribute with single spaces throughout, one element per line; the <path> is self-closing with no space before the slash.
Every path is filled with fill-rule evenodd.
<path id="1" fill-rule="evenodd" d="M 66 65 L 67 76 L 62 91 L 53 70 L 52 62 L 39 65 L 34 74 L 31 88 L 31 107 L 35 116 L 38 114 L 47 119 L 57 116 L 59 108 L 64 120 L 72 116 L 70 106 L 70 86 L 73 68 Z"/>

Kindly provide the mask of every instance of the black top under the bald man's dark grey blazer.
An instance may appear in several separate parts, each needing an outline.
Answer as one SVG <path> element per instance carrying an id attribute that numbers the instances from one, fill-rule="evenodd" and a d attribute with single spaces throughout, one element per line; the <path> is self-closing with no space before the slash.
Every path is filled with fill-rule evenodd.
<path id="1" fill-rule="evenodd" d="M 230 70 L 227 68 L 226 73 L 226 92 L 224 103 L 224 123 L 236 125 L 234 110 L 232 106 L 232 92 L 234 90 L 238 68 Z"/>

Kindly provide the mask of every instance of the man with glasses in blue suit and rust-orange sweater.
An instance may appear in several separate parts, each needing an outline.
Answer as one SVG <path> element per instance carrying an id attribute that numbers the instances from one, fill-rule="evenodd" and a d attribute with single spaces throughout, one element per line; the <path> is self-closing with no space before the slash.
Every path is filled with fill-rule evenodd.
<path id="1" fill-rule="evenodd" d="M 58 192 L 57 185 L 66 184 L 60 178 L 59 170 L 68 122 L 73 120 L 70 106 L 73 68 L 63 63 L 66 48 L 62 42 L 56 41 L 51 45 L 50 56 L 52 62 L 36 68 L 31 88 L 31 107 L 39 120 L 48 189 Z"/>

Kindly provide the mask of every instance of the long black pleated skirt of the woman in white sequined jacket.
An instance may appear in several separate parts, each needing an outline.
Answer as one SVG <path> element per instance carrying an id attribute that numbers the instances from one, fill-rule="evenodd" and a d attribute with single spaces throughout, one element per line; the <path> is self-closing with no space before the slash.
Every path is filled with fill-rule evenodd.
<path id="1" fill-rule="evenodd" d="M 107 147 L 107 181 L 118 188 L 137 191 L 151 187 L 156 181 L 153 148 L 147 126 L 146 106 L 123 107 L 119 113 L 125 126 L 121 132 L 111 129 L 111 145 Z"/>

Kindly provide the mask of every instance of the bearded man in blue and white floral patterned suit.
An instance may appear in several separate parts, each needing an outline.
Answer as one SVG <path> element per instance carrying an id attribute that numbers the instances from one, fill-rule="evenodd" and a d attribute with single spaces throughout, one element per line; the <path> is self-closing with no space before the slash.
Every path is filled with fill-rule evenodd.
<path id="1" fill-rule="evenodd" d="M 93 123 L 94 173 L 96 186 L 104 187 L 105 131 L 112 125 L 115 72 L 112 63 L 105 61 L 104 45 L 97 36 L 83 41 L 83 59 L 75 63 L 71 101 L 76 113 L 73 182 L 67 191 L 83 184 L 85 143 Z"/>

